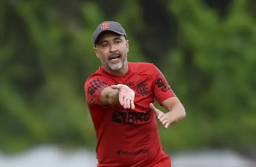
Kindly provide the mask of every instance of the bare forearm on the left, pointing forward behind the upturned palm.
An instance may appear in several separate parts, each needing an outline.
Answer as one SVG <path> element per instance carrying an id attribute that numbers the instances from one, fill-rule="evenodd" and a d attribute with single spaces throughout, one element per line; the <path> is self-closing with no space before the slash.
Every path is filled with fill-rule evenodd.
<path id="1" fill-rule="evenodd" d="M 111 87 L 106 87 L 102 90 L 100 93 L 100 100 L 102 104 L 108 105 L 108 104 L 119 104 L 118 100 L 118 90 L 112 89 Z"/>

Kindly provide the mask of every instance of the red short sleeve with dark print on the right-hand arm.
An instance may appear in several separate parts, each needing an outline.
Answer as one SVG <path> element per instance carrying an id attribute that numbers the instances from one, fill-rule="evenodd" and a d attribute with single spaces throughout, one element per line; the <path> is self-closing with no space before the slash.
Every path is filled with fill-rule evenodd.
<path id="1" fill-rule="evenodd" d="M 157 100 L 159 104 L 161 104 L 166 99 L 176 96 L 172 91 L 171 86 L 168 84 L 165 76 L 162 72 L 154 66 L 155 73 L 155 83 L 154 83 L 154 98 Z"/>

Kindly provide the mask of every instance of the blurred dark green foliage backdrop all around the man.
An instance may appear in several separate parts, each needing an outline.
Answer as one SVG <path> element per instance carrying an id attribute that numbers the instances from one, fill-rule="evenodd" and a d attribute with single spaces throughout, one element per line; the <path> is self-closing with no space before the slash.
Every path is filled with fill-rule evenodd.
<path id="1" fill-rule="evenodd" d="M 95 149 L 84 82 L 101 65 L 92 34 L 102 21 L 121 23 L 128 60 L 154 63 L 187 111 L 181 123 L 159 126 L 165 150 L 255 146 L 255 6 L 255 0 L 0 1 L 0 150 L 44 143 Z"/>

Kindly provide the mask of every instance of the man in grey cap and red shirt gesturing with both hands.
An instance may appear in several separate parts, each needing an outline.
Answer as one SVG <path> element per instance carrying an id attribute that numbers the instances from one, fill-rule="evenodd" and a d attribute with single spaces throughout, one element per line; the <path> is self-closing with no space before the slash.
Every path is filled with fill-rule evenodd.
<path id="1" fill-rule="evenodd" d="M 97 167 L 171 167 L 154 115 L 167 128 L 185 117 L 183 105 L 154 64 L 128 62 L 129 42 L 119 23 L 102 22 L 93 39 L 102 66 L 84 89 L 97 135 Z M 156 109 L 154 99 L 168 112 Z"/>

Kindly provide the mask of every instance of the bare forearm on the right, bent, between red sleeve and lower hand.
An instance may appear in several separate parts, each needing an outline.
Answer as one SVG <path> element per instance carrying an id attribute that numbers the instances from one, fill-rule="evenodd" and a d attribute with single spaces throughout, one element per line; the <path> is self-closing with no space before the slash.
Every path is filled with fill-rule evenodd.
<path id="1" fill-rule="evenodd" d="M 186 112 L 182 104 L 177 103 L 167 113 L 168 117 L 172 119 L 171 124 L 176 124 L 186 117 Z"/>

